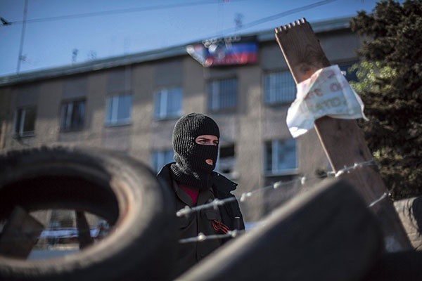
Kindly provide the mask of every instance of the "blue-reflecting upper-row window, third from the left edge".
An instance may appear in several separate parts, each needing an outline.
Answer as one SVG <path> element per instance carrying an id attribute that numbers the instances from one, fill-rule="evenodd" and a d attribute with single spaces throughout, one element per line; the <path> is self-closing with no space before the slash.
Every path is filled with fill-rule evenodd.
<path id="1" fill-rule="evenodd" d="M 107 98 L 106 125 L 124 125 L 131 121 L 132 95 Z"/>

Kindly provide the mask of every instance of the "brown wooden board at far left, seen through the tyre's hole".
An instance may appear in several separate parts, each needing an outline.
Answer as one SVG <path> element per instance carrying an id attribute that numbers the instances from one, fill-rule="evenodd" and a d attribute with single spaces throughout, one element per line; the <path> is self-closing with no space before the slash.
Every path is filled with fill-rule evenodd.
<path id="1" fill-rule="evenodd" d="M 0 255 L 26 259 L 42 230 L 44 226 L 25 209 L 15 207 L 0 236 Z"/>

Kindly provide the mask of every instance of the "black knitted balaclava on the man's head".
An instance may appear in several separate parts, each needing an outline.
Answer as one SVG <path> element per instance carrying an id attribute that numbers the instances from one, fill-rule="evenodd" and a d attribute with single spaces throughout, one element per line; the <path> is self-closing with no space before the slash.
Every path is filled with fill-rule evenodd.
<path id="1" fill-rule="evenodd" d="M 181 117 L 173 130 L 173 150 L 176 164 L 172 164 L 174 179 L 193 188 L 206 190 L 212 185 L 211 172 L 215 169 L 218 145 L 200 145 L 195 139 L 201 135 L 219 138 L 219 129 L 214 120 L 200 113 Z M 205 163 L 212 159 L 212 165 Z"/>

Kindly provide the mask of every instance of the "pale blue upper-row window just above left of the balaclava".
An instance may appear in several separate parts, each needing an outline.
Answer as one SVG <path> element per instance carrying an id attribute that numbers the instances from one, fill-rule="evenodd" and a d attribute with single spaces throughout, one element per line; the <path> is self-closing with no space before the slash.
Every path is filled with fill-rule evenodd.
<path id="1" fill-rule="evenodd" d="M 155 93 L 155 119 L 180 117 L 182 114 L 183 89 L 174 87 Z"/>

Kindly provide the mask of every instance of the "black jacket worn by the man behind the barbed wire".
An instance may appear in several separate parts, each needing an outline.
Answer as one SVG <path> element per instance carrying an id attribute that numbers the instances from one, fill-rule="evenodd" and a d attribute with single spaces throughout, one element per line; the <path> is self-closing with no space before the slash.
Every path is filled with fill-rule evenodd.
<path id="1" fill-rule="evenodd" d="M 158 179 L 162 184 L 165 184 L 168 188 L 172 189 L 172 194 L 174 194 L 174 200 L 176 203 L 174 214 L 176 214 L 176 212 L 180 209 L 183 209 L 186 206 L 192 206 L 191 197 L 181 190 L 172 178 L 170 169 L 171 164 L 172 163 L 162 167 L 160 172 L 158 172 Z M 179 230 L 177 233 L 179 239 L 196 237 L 199 233 L 203 233 L 204 235 L 222 234 L 213 228 L 213 221 L 222 221 L 229 230 L 245 229 L 243 216 L 238 202 L 236 197 L 231 194 L 231 191 L 236 189 L 237 184 L 216 172 L 212 172 L 212 179 L 212 188 L 210 188 L 210 190 L 200 191 L 198 195 L 198 205 L 211 202 L 212 200 L 215 200 L 215 198 L 219 200 L 233 198 L 233 200 L 219 206 L 218 210 L 211 207 L 194 212 L 188 216 L 175 218 L 177 220 Z M 175 268 L 176 274 L 179 275 L 180 273 L 183 273 L 184 270 L 193 266 L 195 263 L 200 261 L 200 259 L 203 259 L 229 239 L 230 238 L 226 238 L 224 240 L 205 240 L 203 242 L 179 244 L 177 268 Z"/>

